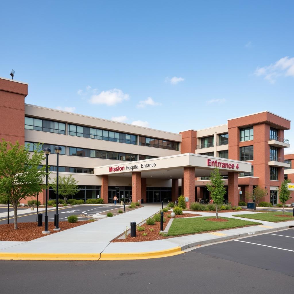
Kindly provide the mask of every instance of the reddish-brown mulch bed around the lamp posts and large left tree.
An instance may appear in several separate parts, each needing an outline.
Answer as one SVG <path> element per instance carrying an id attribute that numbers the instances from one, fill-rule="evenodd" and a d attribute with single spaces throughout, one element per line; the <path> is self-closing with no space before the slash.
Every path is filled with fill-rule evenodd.
<path id="1" fill-rule="evenodd" d="M 66 230 L 70 228 L 77 227 L 79 225 L 84 225 L 89 223 L 88 220 L 79 220 L 77 223 L 69 223 L 67 221 L 59 222 L 59 228 L 61 230 Z M 37 238 L 41 238 L 46 236 L 46 234 L 42 234 L 44 231 L 43 222 L 42 227 L 37 226 L 37 222 L 30 222 L 30 223 L 18 223 L 18 229 L 14 230 L 14 223 L 0 225 L 0 240 L 1 241 L 31 241 Z M 51 234 L 58 233 L 60 231 L 54 231 L 55 228 L 54 222 L 48 223 L 48 230 L 51 231 Z"/>

